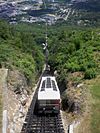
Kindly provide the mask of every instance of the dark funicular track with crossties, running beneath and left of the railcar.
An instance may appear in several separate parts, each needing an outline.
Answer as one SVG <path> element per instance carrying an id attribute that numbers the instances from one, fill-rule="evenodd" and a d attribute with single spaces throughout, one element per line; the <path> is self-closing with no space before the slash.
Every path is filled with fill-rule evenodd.
<path id="1" fill-rule="evenodd" d="M 41 115 L 36 113 L 36 99 L 39 85 L 40 82 L 28 109 L 21 133 L 64 133 L 60 113 Z"/>

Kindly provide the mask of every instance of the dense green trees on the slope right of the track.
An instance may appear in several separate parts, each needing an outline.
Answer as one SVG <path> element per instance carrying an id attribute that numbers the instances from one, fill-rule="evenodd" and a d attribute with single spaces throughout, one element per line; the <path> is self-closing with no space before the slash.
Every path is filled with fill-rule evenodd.
<path id="1" fill-rule="evenodd" d="M 49 64 L 60 78 L 71 72 L 83 72 L 84 79 L 100 74 L 100 29 L 70 29 L 60 27 L 50 33 Z M 98 57 L 96 57 L 98 56 Z"/>

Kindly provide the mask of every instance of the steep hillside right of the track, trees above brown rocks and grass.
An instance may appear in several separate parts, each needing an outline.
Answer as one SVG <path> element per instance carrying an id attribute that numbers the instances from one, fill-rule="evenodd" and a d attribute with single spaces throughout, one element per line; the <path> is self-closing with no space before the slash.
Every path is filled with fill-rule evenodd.
<path id="1" fill-rule="evenodd" d="M 100 75 L 100 28 L 57 27 L 49 35 L 49 64 L 62 94 L 62 110 L 66 112 L 69 124 L 73 120 L 83 120 L 84 126 L 80 126 L 79 133 L 99 133 L 99 85 L 91 87 L 91 94 L 96 98 L 92 104 L 90 88 L 85 81 L 91 85 Z M 84 119 L 89 125 L 86 126 Z"/>

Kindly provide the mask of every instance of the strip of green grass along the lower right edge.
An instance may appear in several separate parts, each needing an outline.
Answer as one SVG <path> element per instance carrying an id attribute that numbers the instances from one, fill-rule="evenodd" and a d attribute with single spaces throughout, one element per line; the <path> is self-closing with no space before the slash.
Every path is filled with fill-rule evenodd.
<path id="1" fill-rule="evenodd" d="M 92 115 L 91 133 L 100 133 L 100 77 L 91 83 Z"/>

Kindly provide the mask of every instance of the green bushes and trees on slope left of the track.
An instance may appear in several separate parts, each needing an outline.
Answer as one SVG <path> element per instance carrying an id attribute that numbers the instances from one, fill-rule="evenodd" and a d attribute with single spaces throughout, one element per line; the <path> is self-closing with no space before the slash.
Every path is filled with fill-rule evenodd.
<path id="1" fill-rule="evenodd" d="M 36 26 L 32 27 L 25 24 L 11 26 L 0 21 L 0 67 L 18 69 L 29 84 L 34 84 L 44 65 L 44 54 L 40 45 L 43 37 L 41 31 L 36 30 Z"/>

